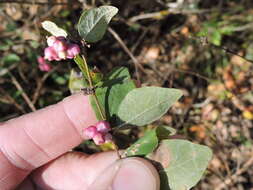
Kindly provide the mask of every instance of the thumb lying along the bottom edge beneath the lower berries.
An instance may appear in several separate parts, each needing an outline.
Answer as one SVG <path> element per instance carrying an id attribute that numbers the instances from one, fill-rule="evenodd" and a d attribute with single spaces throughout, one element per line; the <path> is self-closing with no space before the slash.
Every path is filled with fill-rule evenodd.
<path id="1" fill-rule="evenodd" d="M 115 152 L 67 153 L 32 173 L 38 189 L 158 190 L 154 167 L 141 158 L 117 160 Z"/>

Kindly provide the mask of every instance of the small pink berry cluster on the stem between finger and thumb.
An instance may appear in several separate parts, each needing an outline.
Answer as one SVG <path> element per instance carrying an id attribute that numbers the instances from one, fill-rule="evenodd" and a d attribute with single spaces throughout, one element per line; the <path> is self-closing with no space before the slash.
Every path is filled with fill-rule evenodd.
<path id="1" fill-rule="evenodd" d="M 110 124 L 107 121 L 99 121 L 84 129 L 83 134 L 88 139 L 93 139 L 96 145 L 112 142 Z"/>

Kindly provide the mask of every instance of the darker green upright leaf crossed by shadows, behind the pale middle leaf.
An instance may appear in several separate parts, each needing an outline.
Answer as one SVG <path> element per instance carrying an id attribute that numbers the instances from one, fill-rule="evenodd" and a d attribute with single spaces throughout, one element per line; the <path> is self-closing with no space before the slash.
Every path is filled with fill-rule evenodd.
<path id="1" fill-rule="evenodd" d="M 106 118 L 111 124 L 115 124 L 117 118 L 117 112 L 121 101 L 126 94 L 135 88 L 134 82 L 131 80 L 128 69 L 125 67 L 119 67 L 113 69 L 104 80 L 100 82 L 99 87 L 96 89 L 96 95 L 104 111 Z M 99 111 L 97 109 L 94 97 L 90 98 L 92 107 L 99 120 Z"/>

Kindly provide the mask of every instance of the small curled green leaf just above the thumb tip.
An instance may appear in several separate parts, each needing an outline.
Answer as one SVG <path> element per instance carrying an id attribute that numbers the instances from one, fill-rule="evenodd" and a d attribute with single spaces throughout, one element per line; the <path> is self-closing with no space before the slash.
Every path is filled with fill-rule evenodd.
<path id="1" fill-rule="evenodd" d="M 143 137 L 126 149 L 124 156 L 146 156 L 155 150 L 158 142 L 174 134 L 175 129 L 165 125 L 147 131 Z"/>

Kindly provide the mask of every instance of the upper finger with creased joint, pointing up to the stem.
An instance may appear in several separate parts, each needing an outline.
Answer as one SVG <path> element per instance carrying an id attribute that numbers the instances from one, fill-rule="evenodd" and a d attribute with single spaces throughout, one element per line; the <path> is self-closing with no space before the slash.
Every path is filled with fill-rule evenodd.
<path id="1" fill-rule="evenodd" d="M 78 145 L 82 129 L 95 122 L 82 94 L 5 122 L 0 127 L 0 189 L 11 189 L 31 170 Z"/>

